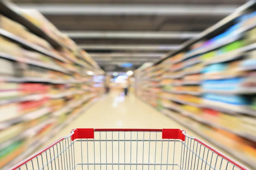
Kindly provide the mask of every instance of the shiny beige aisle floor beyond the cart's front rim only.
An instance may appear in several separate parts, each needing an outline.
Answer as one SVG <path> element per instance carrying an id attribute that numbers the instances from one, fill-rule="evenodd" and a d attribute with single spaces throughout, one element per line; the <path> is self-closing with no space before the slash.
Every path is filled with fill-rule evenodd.
<path id="1" fill-rule="evenodd" d="M 54 139 L 67 136 L 74 128 L 181 128 L 154 108 L 145 104 L 134 94 L 124 96 L 113 91 L 99 99 L 85 113 L 59 132 Z M 194 133 L 186 130 L 191 136 Z M 54 141 L 52 139 L 52 141 Z"/>

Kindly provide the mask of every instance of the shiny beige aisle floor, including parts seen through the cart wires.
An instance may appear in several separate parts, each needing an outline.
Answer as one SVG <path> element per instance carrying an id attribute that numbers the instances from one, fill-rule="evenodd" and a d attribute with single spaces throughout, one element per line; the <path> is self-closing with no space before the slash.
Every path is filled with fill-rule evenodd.
<path id="1" fill-rule="evenodd" d="M 70 125 L 63 128 L 55 137 L 52 138 L 51 141 L 45 144 L 46 147 L 51 142 L 54 142 L 56 139 L 67 136 L 70 133 L 70 130 L 74 128 L 179 128 L 185 129 L 180 124 L 176 123 L 169 117 L 163 115 L 159 111 L 156 111 L 154 108 L 145 104 L 143 101 L 138 99 L 134 94 L 129 94 L 128 96 L 123 96 L 119 92 L 111 92 L 110 94 L 102 96 L 96 104 L 94 104 L 91 108 L 89 108 L 85 113 L 81 114 L 76 120 L 74 120 Z M 195 133 L 186 129 L 186 133 L 190 136 L 198 137 Z M 161 142 L 161 134 L 151 133 L 130 133 L 130 132 L 120 132 L 119 140 L 134 140 L 132 142 L 123 142 L 123 141 L 113 141 L 112 139 L 118 139 L 118 133 L 111 132 L 102 132 L 101 134 L 95 133 L 95 140 L 99 139 L 101 136 L 102 142 L 89 140 L 84 140 L 83 142 L 75 142 L 73 148 L 67 151 L 64 151 L 61 156 L 55 159 L 52 164 L 49 164 L 49 169 L 73 169 L 72 162 L 69 160 L 74 160 L 75 164 L 89 162 L 91 165 L 83 165 L 77 166 L 76 170 L 180 170 L 178 166 L 169 165 L 168 167 L 165 164 L 182 164 L 183 170 L 212 170 L 209 165 L 205 164 L 195 157 L 195 154 L 189 152 L 187 147 L 182 147 L 180 142 L 168 142 L 164 141 L 163 144 Z M 151 142 L 148 141 L 139 141 L 142 139 L 148 140 L 151 139 Z M 155 139 L 160 139 L 159 142 L 155 142 Z M 109 142 L 104 142 L 105 139 L 109 139 Z M 207 142 L 207 141 L 205 141 Z M 52 149 L 51 154 L 55 152 L 60 152 L 65 145 L 70 144 L 70 141 L 67 143 L 63 142 L 59 144 L 58 150 L 57 147 Z M 212 167 L 220 170 L 231 170 L 233 167 L 223 161 L 221 163 L 221 159 L 217 158 L 215 154 L 212 155 L 211 152 L 204 149 L 204 147 L 198 148 L 196 147 L 196 143 L 190 140 L 186 143 L 189 147 L 193 148 L 194 152 L 200 154 L 201 158 L 207 159 L 210 163 L 212 162 Z M 169 147 L 168 147 L 169 146 Z M 42 148 L 43 148 L 42 147 Z M 87 149 L 88 148 L 88 149 Z M 181 149 L 182 148 L 182 149 Z M 184 151 L 185 148 L 185 151 Z M 82 150 L 82 152 L 81 152 Z M 95 150 L 95 151 L 94 151 Z M 182 151 L 183 150 L 183 151 Z M 88 154 L 87 154 L 88 153 Z M 175 153 L 175 154 L 174 154 Z M 187 153 L 187 154 L 186 154 Z M 184 155 L 182 157 L 181 155 Z M 210 158 L 213 157 L 211 160 Z M 184 158 L 184 159 L 183 159 Z M 41 159 L 39 157 L 39 159 Z M 44 159 L 44 163 L 46 162 L 46 156 L 42 157 Z M 180 161 L 182 160 L 182 162 Z M 216 161 L 216 159 L 218 161 Z M 48 153 L 49 160 L 49 153 Z M 65 163 L 64 163 L 65 160 Z M 162 160 L 162 161 L 161 161 Z M 96 163 L 102 163 L 103 165 L 94 166 L 94 161 Z M 105 163 L 109 165 L 105 165 Z M 119 162 L 119 166 L 118 166 Z M 192 162 L 192 163 L 191 163 Z M 215 163 L 217 162 L 217 163 Z M 62 163 L 62 165 L 61 165 Z M 113 166 L 112 166 L 113 163 Z M 127 165 L 122 165 L 122 164 Z M 163 164 L 162 166 L 154 164 Z M 132 164 L 132 165 L 131 165 Z M 134 165 L 141 164 L 141 165 Z M 143 164 L 143 165 L 142 165 Z M 152 165 L 148 165 L 152 164 Z M 220 168 L 220 164 L 222 165 Z M 56 165 L 56 167 L 55 167 Z M 227 166 L 226 166 L 227 165 Z M 30 166 L 31 168 L 31 166 Z M 29 169 L 30 169 L 29 168 Z M 47 167 L 45 168 L 47 169 Z M 237 170 L 234 168 L 234 170 Z"/>

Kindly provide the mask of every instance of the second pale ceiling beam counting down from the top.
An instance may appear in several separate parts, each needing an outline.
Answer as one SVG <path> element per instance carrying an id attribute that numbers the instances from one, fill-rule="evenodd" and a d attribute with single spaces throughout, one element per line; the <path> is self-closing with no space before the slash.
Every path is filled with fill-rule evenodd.
<path id="1" fill-rule="evenodd" d="M 177 31 L 61 31 L 70 38 L 189 39 L 200 32 Z"/>

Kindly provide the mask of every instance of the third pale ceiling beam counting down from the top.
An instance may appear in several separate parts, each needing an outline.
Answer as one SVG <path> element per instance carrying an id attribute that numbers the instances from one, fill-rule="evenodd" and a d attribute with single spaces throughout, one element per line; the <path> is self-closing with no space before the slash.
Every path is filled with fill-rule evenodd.
<path id="1" fill-rule="evenodd" d="M 78 45 L 84 50 L 133 50 L 133 51 L 170 51 L 177 50 L 180 45 L 115 45 L 115 44 L 80 44 Z"/>

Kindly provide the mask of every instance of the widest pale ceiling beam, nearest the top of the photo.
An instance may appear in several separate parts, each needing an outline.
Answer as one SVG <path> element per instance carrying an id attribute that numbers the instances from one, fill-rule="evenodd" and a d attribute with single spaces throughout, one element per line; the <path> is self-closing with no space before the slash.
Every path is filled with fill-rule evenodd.
<path id="1" fill-rule="evenodd" d="M 42 14 L 103 14 L 103 15 L 228 15 L 236 5 L 98 5 L 98 4 L 18 4 L 24 9 L 36 9 Z"/>

